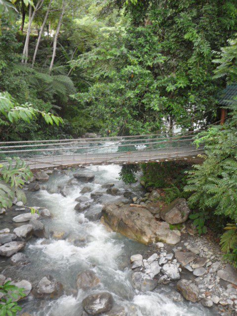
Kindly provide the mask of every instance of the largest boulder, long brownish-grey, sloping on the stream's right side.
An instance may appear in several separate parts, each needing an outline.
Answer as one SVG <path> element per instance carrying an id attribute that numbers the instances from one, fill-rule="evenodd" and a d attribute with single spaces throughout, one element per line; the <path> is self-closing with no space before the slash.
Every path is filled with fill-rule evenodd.
<path id="1" fill-rule="evenodd" d="M 144 244 L 163 241 L 176 244 L 180 237 L 169 229 L 169 224 L 158 222 L 143 207 L 106 204 L 102 210 L 102 222 L 112 230 Z"/>

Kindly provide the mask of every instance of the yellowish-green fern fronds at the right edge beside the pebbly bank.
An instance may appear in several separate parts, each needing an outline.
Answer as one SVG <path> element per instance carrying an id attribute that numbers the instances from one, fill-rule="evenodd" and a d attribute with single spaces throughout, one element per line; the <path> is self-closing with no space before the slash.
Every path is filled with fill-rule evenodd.
<path id="1" fill-rule="evenodd" d="M 221 249 L 225 252 L 224 259 L 237 267 L 237 225 L 227 224 L 226 232 L 221 236 Z"/>

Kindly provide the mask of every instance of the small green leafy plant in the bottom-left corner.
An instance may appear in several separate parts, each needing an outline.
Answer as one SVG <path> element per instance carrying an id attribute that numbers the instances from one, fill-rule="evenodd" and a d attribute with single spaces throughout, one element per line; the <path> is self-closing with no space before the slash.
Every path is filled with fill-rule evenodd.
<path id="1" fill-rule="evenodd" d="M 26 296 L 24 288 L 18 288 L 7 281 L 0 285 L 0 292 L 4 294 L 0 299 L 0 316 L 16 316 L 16 313 L 21 311 L 21 307 L 17 305 L 15 300 Z"/>

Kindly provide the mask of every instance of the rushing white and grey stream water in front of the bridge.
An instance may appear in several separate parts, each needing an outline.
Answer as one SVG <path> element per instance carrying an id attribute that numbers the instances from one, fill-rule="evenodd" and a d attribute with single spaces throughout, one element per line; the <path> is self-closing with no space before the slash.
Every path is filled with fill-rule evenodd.
<path id="1" fill-rule="evenodd" d="M 116 165 L 90 166 L 80 172 L 91 171 L 95 179 L 91 183 L 72 184 L 67 197 L 57 192 L 58 186 L 64 187 L 73 178 L 73 171 L 66 174 L 55 171 L 45 184 L 45 190 L 36 193 L 26 191 L 27 205 L 42 206 L 52 213 L 51 219 L 43 220 L 46 231 L 62 230 L 67 234 L 65 240 L 32 238 L 27 242 L 24 253 L 31 264 L 23 267 L 10 267 L 6 262 L 2 271 L 12 279 L 26 279 L 33 284 L 45 275 L 51 275 L 64 285 L 64 294 L 54 300 L 40 300 L 33 296 L 21 301 L 23 312 L 32 316 L 80 316 L 81 301 L 89 294 L 110 292 L 115 302 L 124 306 L 128 316 L 210 316 L 217 315 L 200 304 L 187 301 L 173 302 L 171 292 L 174 285 L 160 285 L 153 292 L 139 293 L 130 282 L 129 258 L 131 254 L 141 253 L 145 246 L 129 240 L 120 234 L 109 232 L 100 221 L 90 221 L 83 213 L 74 210 L 75 199 L 81 194 L 82 187 L 89 185 L 92 192 L 105 191 L 101 185 L 112 182 L 119 189 L 141 192 L 139 185 L 125 186 L 118 180 L 120 167 Z M 90 197 L 90 193 L 84 194 Z M 97 213 L 106 201 L 115 201 L 124 197 L 104 195 L 101 201 L 93 201 L 90 211 Z M 2 228 L 7 227 L 1 223 Z M 4 227 L 3 227 L 4 226 Z M 10 227 L 9 227 L 10 228 Z M 75 242 L 75 240 L 77 242 Z M 79 272 L 93 270 L 100 278 L 95 290 L 77 290 L 76 281 Z M 21 314 L 21 313 L 20 313 Z"/>

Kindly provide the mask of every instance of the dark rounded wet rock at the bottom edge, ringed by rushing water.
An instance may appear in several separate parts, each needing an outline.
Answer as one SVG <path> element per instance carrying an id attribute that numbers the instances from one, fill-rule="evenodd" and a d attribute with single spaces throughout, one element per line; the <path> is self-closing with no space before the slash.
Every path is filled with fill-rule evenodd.
<path id="1" fill-rule="evenodd" d="M 113 297 L 107 292 L 89 295 L 82 301 L 82 306 L 89 315 L 99 315 L 109 312 L 113 304 Z"/>

